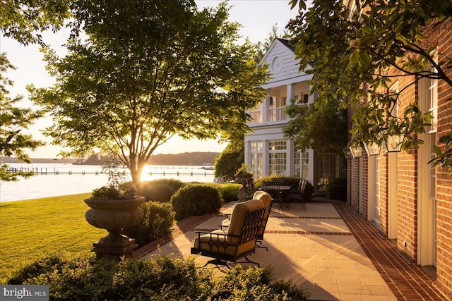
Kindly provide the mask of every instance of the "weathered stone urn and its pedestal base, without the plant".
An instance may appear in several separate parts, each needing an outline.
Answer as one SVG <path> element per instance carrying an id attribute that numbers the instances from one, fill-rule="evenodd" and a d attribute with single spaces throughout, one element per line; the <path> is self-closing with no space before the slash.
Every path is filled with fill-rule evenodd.
<path id="1" fill-rule="evenodd" d="M 97 259 L 119 261 L 121 257 L 133 257 L 138 245 L 133 238 L 121 234 L 123 228 L 135 226 L 143 219 L 141 204 L 144 197 L 136 199 L 85 199 L 91 209 L 86 211 L 85 219 L 96 228 L 106 229 L 108 235 L 93 243 Z"/>

